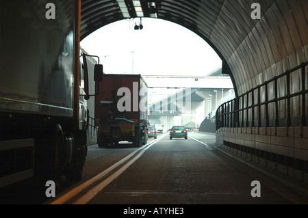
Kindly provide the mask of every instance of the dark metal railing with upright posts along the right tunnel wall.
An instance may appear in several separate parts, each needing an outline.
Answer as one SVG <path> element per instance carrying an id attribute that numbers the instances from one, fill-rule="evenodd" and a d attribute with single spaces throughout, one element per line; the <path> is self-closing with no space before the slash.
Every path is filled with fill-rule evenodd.
<path id="1" fill-rule="evenodd" d="M 220 105 L 216 111 L 216 130 L 221 127 L 307 126 L 307 65 L 308 62 L 304 62 L 296 68 L 287 70 L 245 94 Z M 293 72 L 298 72 L 298 77 L 301 77 L 301 84 L 297 86 L 298 90 L 300 90 L 298 92 L 292 92 L 291 90 L 291 85 L 294 85 L 294 82 L 290 79 Z M 280 96 L 279 79 L 283 77 L 285 78 L 283 83 L 285 83 L 286 90 L 285 94 Z M 301 108 L 298 108 L 300 110 L 299 113 L 301 113 L 300 117 L 298 117 L 300 119 L 300 122 L 297 123 L 298 125 L 292 124 L 292 98 L 297 98 L 296 100 L 301 102 Z M 281 101 L 284 101 L 281 105 L 286 106 L 285 117 L 279 115 L 281 112 L 279 110 L 279 103 Z M 274 114 L 272 114 L 272 110 L 270 111 L 269 107 L 274 109 Z"/>

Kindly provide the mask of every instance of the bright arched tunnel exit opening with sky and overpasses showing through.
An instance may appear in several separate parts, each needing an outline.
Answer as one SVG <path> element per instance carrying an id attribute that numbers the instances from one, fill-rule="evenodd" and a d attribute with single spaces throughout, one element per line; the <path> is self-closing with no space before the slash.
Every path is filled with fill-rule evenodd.
<path id="1" fill-rule="evenodd" d="M 136 28 L 141 25 L 142 29 Z M 106 25 L 81 41 L 106 74 L 141 74 L 149 124 L 215 133 L 216 109 L 235 97 L 229 68 L 196 33 L 170 21 L 136 18 Z M 189 106 L 189 108 L 188 108 Z M 91 113 L 91 111 L 90 111 Z"/>

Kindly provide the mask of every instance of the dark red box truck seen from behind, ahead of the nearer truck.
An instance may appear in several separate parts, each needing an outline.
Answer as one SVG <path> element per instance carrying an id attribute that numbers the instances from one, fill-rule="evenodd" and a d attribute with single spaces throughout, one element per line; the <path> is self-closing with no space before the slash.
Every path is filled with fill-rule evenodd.
<path id="1" fill-rule="evenodd" d="M 140 74 L 103 74 L 97 83 L 94 119 L 100 148 L 128 141 L 134 147 L 148 140 L 148 86 Z"/>

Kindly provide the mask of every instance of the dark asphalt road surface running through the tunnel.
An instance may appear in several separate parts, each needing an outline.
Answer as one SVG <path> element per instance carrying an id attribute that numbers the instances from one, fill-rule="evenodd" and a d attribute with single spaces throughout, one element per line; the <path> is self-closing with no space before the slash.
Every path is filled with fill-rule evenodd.
<path id="1" fill-rule="evenodd" d="M 214 142 L 215 135 L 189 133 L 187 140 L 159 135 L 142 148 L 92 145 L 80 182 L 64 185 L 56 197 L 36 197 L 46 187 L 19 188 L 7 199 L 18 204 L 308 204 L 307 196 L 224 154 Z"/>

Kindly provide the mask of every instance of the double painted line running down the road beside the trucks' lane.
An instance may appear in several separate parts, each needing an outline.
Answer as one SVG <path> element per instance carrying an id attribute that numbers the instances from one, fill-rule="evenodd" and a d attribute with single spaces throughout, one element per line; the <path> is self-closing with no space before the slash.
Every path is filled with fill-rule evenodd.
<path id="1" fill-rule="evenodd" d="M 164 136 L 166 136 L 166 135 L 164 135 Z M 99 182 L 98 185 L 95 185 L 94 187 L 92 187 L 87 193 L 85 193 L 84 195 L 79 197 L 79 199 L 77 199 L 75 202 L 73 202 L 73 204 L 87 204 L 88 202 L 90 202 L 90 200 L 92 200 L 93 197 L 95 197 L 95 195 L 97 195 L 97 193 L 99 193 L 99 191 L 101 191 L 107 185 L 109 185 L 110 182 L 115 180 L 118 176 L 120 176 L 120 174 L 125 172 L 125 170 L 130 165 L 132 165 L 135 161 L 137 161 L 140 158 L 140 156 L 142 156 L 142 154 L 146 150 L 148 150 L 151 146 L 156 144 L 163 137 L 159 137 L 159 139 L 156 139 L 155 141 L 152 141 L 150 144 L 147 144 L 146 146 L 143 146 L 142 148 L 139 148 L 139 149 L 131 152 L 131 154 L 126 156 L 124 159 L 118 161 L 117 163 L 115 163 L 111 167 L 105 169 L 103 172 L 101 172 L 100 174 L 97 174 L 97 176 L 94 176 L 93 178 L 91 178 L 90 180 L 82 183 L 78 187 L 75 187 L 74 189 L 68 191 L 66 194 L 64 194 L 61 197 L 57 198 L 57 200 L 51 202 L 51 204 L 64 204 L 65 202 L 67 202 L 68 200 L 73 198 L 75 195 L 77 195 L 78 193 L 80 193 L 84 189 L 90 187 L 90 185 L 93 185 L 94 182 L 97 182 L 97 180 L 103 178 L 107 174 L 110 174 L 111 172 L 116 170 L 110 176 L 105 178 L 102 182 Z M 135 156 L 135 154 L 137 154 L 137 155 Z M 125 162 L 127 162 L 127 163 L 125 163 Z M 125 163 L 125 165 L 123 165 L 124 163 Z M 123 166 L 120 167 L 120 165 L 123 165 Z M 120 168 L 117 169 L 118 167 L 120 167 Z"/>

